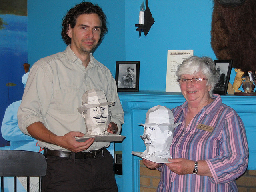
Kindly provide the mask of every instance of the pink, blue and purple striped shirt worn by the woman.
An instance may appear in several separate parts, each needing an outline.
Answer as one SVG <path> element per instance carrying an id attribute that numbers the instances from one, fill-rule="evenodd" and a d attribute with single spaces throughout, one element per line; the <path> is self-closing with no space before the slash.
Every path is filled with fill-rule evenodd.
<path id="1" fill-rule="evenodd" d="M 175 128 L 170 154 L 172 158 L 205 160 L 213 178 L 178 175 L 163 165 L 159 168 L 158 192 L 238 191 L 235 180 L 245 172 L 249 154 L 244 124 L 234 109 L 222 103 L 219 95 L 213 94 L 212 98 L 214 102 L 204 106 L 187 127 L 187 102 L 172 109 L 175 122 L 182 123 Z M 198 124 L 214 129 L 201 130 Z"/>

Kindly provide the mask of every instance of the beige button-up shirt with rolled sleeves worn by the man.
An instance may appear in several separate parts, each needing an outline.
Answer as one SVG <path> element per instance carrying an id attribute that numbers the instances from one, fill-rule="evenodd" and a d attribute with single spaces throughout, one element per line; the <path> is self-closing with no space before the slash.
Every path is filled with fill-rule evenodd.
<path id="1" fill-rule="evenodd" d="M 92 88 L 102 90 L 108 102 L 115 102 L 110 107 L 111 121 L 118 125 L 119 134 L 124 123 L 124 112 L 110 70 L 95 60 L 92 54 L 85 68 L 70 46 L 64 52 L 42 58 L 32 66 L 18 109 L 20 130 L 28 134 L 30 124 L 42 122 L 58 136 L 70 131 L 86 133 L 84 118 L 77 108 L 82 105 L 82 95 Z M 46 142 L 38 141 L 38 144 L 42 148 L 67 151 Z M 94 142 L 88 150 L 108 145 L 109 142 Z"/>

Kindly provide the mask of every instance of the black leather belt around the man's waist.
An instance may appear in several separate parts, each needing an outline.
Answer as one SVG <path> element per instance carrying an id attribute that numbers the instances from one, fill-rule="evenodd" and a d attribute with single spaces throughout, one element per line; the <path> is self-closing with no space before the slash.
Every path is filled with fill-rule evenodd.
<path id="1" fill-rule="evenodd" d="M 57 151 L 57 150 L 50 150 L 50 149 L 44 149 L 44 155 L 46 156 L 55 156 L 55 157 L 70 157 L 72 158 L 72 155 L 75 159 L 86 159 L 86 158 L 95 158 L 97 154 L 102 153 L 102 149 L 98 150 L 92 150 L 88 152 L 67 152 L 67 151 Z"/>

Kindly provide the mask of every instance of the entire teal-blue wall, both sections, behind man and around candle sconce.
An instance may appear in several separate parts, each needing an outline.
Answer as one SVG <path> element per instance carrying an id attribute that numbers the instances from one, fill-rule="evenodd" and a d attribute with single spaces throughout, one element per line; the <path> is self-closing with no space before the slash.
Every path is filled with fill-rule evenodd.
<path id="1" fill-rule="evenodd" d="M 28 62 L 63 51 L 61 21 L 82 0 L 28 0 Z M 116 61 L 140 61 L 140 90 L 165 91 L 167 51 L 192 49 L 215 58 L 210 45 L 212 0 L 149 0 L 155 20 L 141 38 L 138 24 L 143 0 L 92 0 L 106 13 L 109 32 L 94 52 L 115 76 Z"/>

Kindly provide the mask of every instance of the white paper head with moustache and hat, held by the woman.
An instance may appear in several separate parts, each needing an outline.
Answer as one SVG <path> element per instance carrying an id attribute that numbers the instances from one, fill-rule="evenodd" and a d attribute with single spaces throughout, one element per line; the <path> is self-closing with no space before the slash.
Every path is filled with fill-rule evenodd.
<path id="1" fill-rule="evenodd" d="M 170 145 L 172 144 L 174 128 L 180 123 L 174 123 L 172 111 L 165 106 L 154 106 L 146 113 L 143 135 L 146 150 L 143 156 L 161 156 L 171 158 Z"/>

